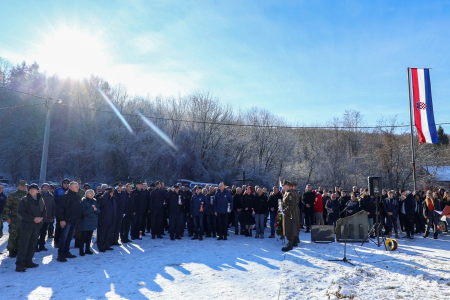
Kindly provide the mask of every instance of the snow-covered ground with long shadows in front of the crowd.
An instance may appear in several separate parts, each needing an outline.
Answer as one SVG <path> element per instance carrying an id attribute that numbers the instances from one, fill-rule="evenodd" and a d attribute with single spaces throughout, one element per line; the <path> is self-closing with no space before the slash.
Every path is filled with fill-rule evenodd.
<path id="1" fill-rule="evenodd" d="M 233 228 L 231 228 L 233 229 Z M 301 231 L 299 246 L 283 253 L 274 238 L 234 235 L 227 241 L 142 240 L 114 251 L 56 261 L 57 251 L 35 253 L 39 267 L 14 271 L 0 239 L 1 299 L 448 299 L 450 236 L 399 240 L 397 251 L 373 243 L 317 244 Z M 268 236 L 269 228 L 266 228 Z M 95 234 L 95 232 L 94 232 Z M 187 236 L 187 234 L 185 235 Z M 72 241 L 73 245 L 73 241 Z M 418 255 L 415 251 L 420 253 Z M 78 249 L 71 249 L 78 254 Z M 357 254 L 360 257 L 358 257 Z"/>

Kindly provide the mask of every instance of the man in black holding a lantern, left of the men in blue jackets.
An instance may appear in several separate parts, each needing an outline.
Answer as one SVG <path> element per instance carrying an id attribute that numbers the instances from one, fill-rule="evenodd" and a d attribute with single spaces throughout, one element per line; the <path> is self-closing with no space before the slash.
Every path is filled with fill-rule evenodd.
<path id="1" fill-rule="evenodd" d="M 181 213 L 183 210 L 184 198 L 179 192 L 179 186 L 173 185 L 172 189 L 165 194 L 165 202 L 169 212 L 169 234 L 170 239 L 181 239 Z"/>

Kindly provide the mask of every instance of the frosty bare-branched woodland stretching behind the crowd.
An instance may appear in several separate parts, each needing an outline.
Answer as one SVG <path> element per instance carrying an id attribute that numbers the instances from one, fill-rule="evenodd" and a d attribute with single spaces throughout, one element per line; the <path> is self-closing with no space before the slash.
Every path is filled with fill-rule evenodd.
<path id="1" fill-rule="evenodd" d="M 411 188 L 408 127 L 382 116 L 376 128 L 359 111 L 349 110 L 322 123 L 301 126 L 264 107 L 243 109 L 209 91 L 178 96 L 131 95 L 99 76 L 74 79 L 48 75 L 36 62 L 12 66 L 0 57 L 0 86 L 62 99 L 52 110 L 47 179 L 83 182 L 147 179 L 172 184 L 179 178 L 272 186 L 278 177 L 313 186 L 365 186 L 381 175 L 384 186 Z M 130 133 L 101 96 L 98 87 L 131 126 Z M 42 99 L 0 88 L 0 106 L 41 103 Z M 79 107 L 74 107 L 79 106 Z M 147 116 L 176 145 L 167 144 L 140 117 Z M 46 108 L 44 104 L 0 109 L 0 175 L 13 180 L 39 177 Z M 183 121 L 180 121 L 183 120 Z M 329 127 L 327 129 L 323 127 Z M 345 128 L 342 128 L 345 127 Z M 441 132 L 441 138 L 447 136 Z M 448 143 L 448 138 L 446 139 Z M 426 165 L 447 165 L 448 145 L 416 145 L 421 185 L 434 185 Z"/>

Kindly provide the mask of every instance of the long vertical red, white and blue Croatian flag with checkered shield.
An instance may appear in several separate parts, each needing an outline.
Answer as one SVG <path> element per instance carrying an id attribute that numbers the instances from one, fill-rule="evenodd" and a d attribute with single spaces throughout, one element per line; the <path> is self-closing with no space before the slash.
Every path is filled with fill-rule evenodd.
<path id="1" fill-rule="evenodd" d="M 438 143 L 429 69 L 411 68 L 415 127 L 419 142 Z"/>

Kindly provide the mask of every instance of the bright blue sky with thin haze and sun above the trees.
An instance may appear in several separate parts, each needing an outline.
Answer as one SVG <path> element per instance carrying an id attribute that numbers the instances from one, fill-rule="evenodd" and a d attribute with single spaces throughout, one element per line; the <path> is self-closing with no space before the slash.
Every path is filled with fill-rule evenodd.
<path id="1" fill-rule="evenodd" d="M 409 123 L 407 67 L 450 122 L 450 1 L 0 0 L 0 56 L 131 94 L 208 89 L 298 124 L 355 109 Z M 7 25 L 5 25 L 7 24 Z M 450 125 L 443 125 L 450 133 Z"/>

